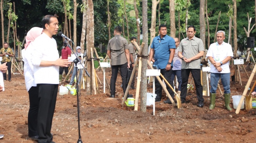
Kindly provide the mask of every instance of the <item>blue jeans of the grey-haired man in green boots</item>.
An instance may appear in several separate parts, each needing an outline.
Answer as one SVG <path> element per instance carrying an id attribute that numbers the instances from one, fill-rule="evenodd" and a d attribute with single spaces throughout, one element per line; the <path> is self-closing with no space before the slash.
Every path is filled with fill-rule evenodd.
<path id="1" fill-rule="evenodd" d="M 222 80 L 224 93 L 230 93 L 230 73 L 211 73 L 211 93 L 216 93 L 218 82 Z"/>

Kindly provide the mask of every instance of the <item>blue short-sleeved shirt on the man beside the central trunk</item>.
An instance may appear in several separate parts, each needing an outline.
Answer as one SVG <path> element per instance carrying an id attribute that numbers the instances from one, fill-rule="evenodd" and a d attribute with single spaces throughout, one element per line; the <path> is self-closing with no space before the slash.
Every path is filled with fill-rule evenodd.
<path id="1" fill-rule="evenodd" d="M 154 49 L 154 64 L 159 69 L 164 69 L 169 61 L 171 53 L 170 49 L 176 49 L 176 46 L 174 39 L 168 35 L 165 35 L 163 38 L 160 38 L 160 36 L 156 36 L 153 39 L 151 48 Z"/>

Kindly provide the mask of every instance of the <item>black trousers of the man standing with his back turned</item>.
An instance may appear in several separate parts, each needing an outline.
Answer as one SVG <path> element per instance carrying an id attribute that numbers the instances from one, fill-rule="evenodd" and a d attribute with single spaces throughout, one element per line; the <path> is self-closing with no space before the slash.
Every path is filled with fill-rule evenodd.
<path id="1" fill-rule="evenodd" d="M 122 77 L 122 88 L 123 88 L 123 93 L 126 91 L 126 77 L 127 77 L 127 63 L 125 64 L 120 64 L 120 65 L 111 65 L 111 79 L 110 79 L 110 94 L 114 95 L 116 92 L 116 78 L 118 74 L 118 70 L 120 70 L 120 74 Z"/>

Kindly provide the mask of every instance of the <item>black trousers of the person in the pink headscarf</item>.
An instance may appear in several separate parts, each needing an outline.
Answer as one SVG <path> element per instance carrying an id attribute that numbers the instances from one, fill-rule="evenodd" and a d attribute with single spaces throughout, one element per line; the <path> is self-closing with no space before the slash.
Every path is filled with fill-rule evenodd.
<path id="1" fill-rule="evenodd" d="M 29 89 L 29 113 L 27 116 L 27 125 L 29 137 L 37 136 L 37 116 L 38 116 L 38 87 L 32 86 Z"/>

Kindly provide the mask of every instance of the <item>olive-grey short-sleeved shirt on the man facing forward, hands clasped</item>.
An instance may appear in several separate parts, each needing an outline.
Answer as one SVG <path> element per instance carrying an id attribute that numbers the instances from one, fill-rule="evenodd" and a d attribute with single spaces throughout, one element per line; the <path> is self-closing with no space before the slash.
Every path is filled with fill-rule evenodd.
<path id="1" fill-rule="evenodd" d="M 200 38 L 194 36 L 191 40 L 185 38 L 180 41 L 179 52 L 183 53 L 183 57 L 189 59 L 197 55 L 200 51 L 204 51 L 203 41 Z M 182 61 L 182 69 L 200 69 L 201 59 L 202 57 L 189 63 Z"/>

